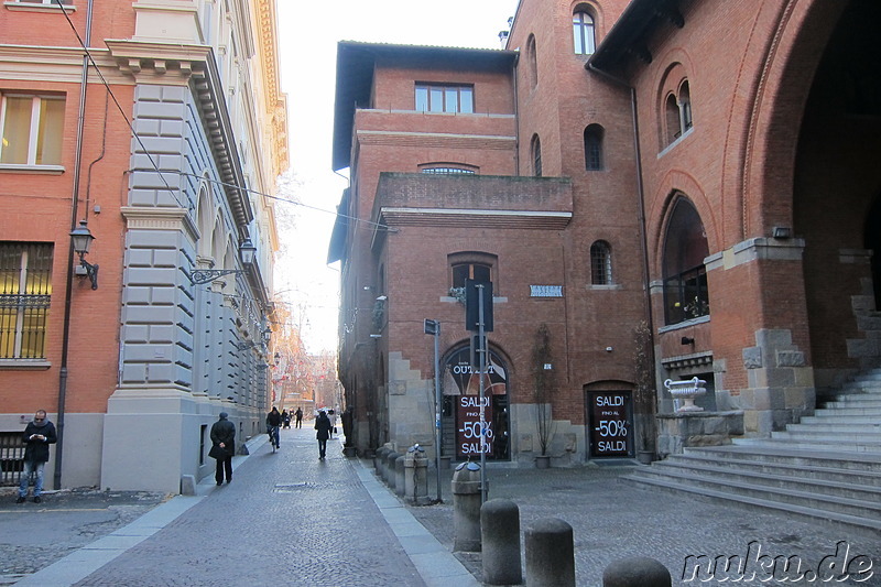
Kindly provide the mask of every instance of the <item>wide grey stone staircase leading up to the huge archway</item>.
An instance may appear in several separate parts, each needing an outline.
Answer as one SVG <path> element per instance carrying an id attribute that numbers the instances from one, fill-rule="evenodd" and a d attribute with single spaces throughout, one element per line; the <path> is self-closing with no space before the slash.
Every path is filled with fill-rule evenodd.
<path id="1" fill-rule="evenodd" d="M 881 532 L 881 369 L 765 439 L 686 448 L 624 477 L 846 530 Z"/>

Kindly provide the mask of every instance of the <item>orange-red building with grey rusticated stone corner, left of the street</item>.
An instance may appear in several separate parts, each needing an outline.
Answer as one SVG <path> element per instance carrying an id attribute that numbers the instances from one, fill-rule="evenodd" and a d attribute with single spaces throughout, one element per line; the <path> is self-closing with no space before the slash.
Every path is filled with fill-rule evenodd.
<path id="1" fill-rule="evenodd" d="M 176 492 L 213 470 L 220 411 L 261 430 L 275 26 L 272 0 L 0 7 L 3 483 L 37 409 L 61 435 L 47 487 Z"/>

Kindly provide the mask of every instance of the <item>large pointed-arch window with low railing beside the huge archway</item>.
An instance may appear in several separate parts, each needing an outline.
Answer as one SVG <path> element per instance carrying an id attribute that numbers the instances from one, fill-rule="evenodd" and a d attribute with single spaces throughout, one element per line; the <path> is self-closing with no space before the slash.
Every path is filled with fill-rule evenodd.
<path id="1" fill-rule="evenodd" d="M 704 224 L 694 205 L 681 196 L 673 205 L 664 239 L 664 318 L 677 324 L 709 315 L 709 254 Z"/>

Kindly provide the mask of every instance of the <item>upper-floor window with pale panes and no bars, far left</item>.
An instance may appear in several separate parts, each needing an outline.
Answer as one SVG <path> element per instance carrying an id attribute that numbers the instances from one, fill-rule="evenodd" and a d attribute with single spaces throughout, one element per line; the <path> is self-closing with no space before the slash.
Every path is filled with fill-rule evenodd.
<path id="1" fill-rule="evenodd" d="M 64 98 L 6 94 L 0 101 L 0 163 L 61 165 Z"/>

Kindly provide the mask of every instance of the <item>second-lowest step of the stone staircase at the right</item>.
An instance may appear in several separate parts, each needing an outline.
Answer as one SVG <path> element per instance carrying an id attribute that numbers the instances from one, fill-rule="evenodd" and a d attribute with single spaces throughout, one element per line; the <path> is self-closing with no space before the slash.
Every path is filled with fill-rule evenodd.
<path id="1" fill-rule="evenodd" d="M 776 501 L 790 503 L 803 508 L 814 509 L 818 512 L 834 512 L 845 515 L 863 515 L 870 520 L 881 522 L 881 502 L 878 501 L 878 492 L 866 493 L 863 499 L 855 499 L 837 494 L 820 493 L 812 486 L 794 487 L 771 487 L 754 482 L 748 477 L 738 478 L 736 475 L 701 475 L 693 470 L 675 470 L 673 467 L 660 467 L 656 464 L 651 467 L 642 467 L 634 470 L 630 478 L 645 479 L 650 477 L 676 480 L 679 485 L 709 489 L 761 499 L 764 501 Z"/>

